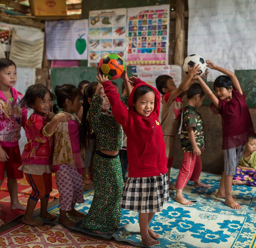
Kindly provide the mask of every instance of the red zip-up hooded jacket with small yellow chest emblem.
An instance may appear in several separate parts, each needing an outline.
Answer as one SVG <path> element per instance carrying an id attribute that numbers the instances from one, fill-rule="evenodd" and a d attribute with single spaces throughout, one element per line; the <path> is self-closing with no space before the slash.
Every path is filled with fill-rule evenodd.
<path id="1" fill-rule="evenodd" d="M 148 117 L 139 115 L 133 108 L 134 91 L 148 85 L 155 92 L 154 110 Z M 127 157 L 129 177 L 152 177 L 167 172 L 165 143 L 158 120 L 160 110 L 160 93 L 149 84 L 137 79 L 128 99 L 128 107 L 120 100 L 119 93 L 111 81 L 103 83 L 105 94 L 109 98 L 113 116 L 127 136 Z"/>

